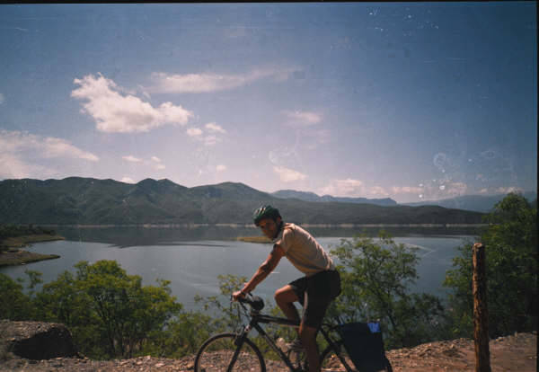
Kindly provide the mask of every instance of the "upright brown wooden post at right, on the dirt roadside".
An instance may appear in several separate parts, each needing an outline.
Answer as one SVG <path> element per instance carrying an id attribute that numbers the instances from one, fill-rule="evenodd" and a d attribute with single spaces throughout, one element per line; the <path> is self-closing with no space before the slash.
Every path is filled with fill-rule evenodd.
<path id="1" fill-rule="evenodd" d="M 473 244 L 473 339 L 475 341 L 475 372 L 490 372 L 489 311 L 487 309 L 487 278 L 485 247 Z"/>

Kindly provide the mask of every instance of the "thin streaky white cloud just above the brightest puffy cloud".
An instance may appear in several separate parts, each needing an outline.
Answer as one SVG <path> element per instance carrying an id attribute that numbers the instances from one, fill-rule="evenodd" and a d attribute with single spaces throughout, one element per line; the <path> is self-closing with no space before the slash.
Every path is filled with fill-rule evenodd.
<path id="1" fill-rule="evenodd" d="M 263 78 L 287 79 L 291 70 L 274 68 L 254 69 L 246 74 L 187 74 L 170 75 L 163 72 L 153 73 L 155 85 L 149 88 L 151 93 L 209 93 L 234 89 L 251 84 Z"/>

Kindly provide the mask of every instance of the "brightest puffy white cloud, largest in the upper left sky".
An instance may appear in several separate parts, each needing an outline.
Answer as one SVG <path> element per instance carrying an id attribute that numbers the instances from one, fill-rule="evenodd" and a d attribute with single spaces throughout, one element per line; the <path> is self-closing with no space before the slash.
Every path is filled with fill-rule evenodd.
<path id="1" fill-rule="evenodd" d="M 93 117 L 96 128 L 109 133 L 147 132 L 166 124 L 185 125 L 192 112 L 164 102 L 153 107 L 135 95 L 122 93 L 112 80 L 101 73 L 98 76 L 86 75 L 75 79 L 79 85 L 71 96 L 84 101 L 83 112 Z"/>

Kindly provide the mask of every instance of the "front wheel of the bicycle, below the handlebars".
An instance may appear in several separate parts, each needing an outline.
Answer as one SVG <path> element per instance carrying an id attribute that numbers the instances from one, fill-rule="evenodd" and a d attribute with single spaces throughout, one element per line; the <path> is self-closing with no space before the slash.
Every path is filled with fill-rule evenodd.
<path id="1" fill-rule="evenodd" d="M 236 337 L 235 333 L 220 333 L 205 341 L 197 351 L 195 372 L 223 372 L 227 370 L 230 372 L 266 372 L 266 363 L 261 350 L 248 338 L 243 340 L 242 349 L 234 361 L 233 368 L 227 369 L 237 349 Z"/>

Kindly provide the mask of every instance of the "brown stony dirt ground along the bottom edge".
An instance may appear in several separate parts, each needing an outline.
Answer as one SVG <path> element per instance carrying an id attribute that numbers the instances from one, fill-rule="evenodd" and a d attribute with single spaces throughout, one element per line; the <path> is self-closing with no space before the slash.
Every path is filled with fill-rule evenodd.
<path id="1" fill-rule="evenodd" d="M 388 359 L 395 372 L 474 371 L 475 353 L 472 340 L 437 341 L 411 349 L 390 350 Z M 9 359 L 0 360 L 0 371 L 63 371 L 63 372 L 190 372 L 194 357 L 97 361 L 90 359 L 57 358 L 49 360 Z M 267 361 L 268 372 L 285 372 L 281 363 Z M 517 333 L 490 341 L 490 367 L 492 372 L 537 371 L 537 333 Z M 323 372 L 341 372 L 335 366 Z"/>

